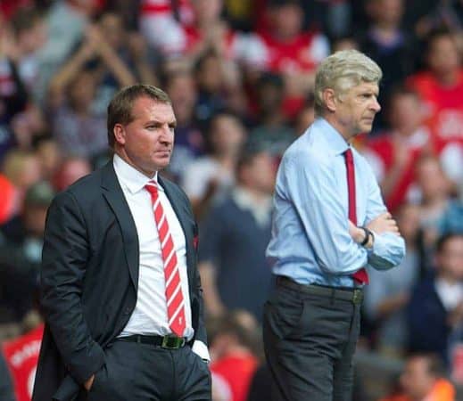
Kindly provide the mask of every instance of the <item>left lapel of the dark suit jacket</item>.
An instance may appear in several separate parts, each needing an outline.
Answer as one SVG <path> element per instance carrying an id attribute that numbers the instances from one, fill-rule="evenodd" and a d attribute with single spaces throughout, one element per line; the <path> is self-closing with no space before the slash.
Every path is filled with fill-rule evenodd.
<path id="1" fill-rule="evenodd" d="M 130 278 L 137 291 L 139 246 L 136 225 L 130 209 L 128 209 L 128 203 L 124 196 L 124 192 L 122 192 L 122 188 L 120 188 L 116 172 L 112 166 L 112 161 L 103 168 L 102 188 L 103 196 L 106 201 L 108 201 L 108 204 L 119 222 Z"/>

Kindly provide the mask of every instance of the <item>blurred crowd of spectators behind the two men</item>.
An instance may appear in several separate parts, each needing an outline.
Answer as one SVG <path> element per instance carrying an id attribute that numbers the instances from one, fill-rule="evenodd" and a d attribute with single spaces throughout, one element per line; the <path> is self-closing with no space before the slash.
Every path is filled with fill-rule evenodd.
<path id="1" fill-rule="evenodd" d="M 461 0 L 2 0 L 0 399 L 29 399 L 16 368 L 37 354 L 37 336 L 29 353 L 17 344 L 41 328 L 46 209 L 111 160 L 106 107 L 136 82 L 166 90 L 178 119 L 163 174 L 183 187 L 200 224 L 213 399 L 269 399 L 260 320 L 273 285 L 264 254 L 277 166 L 315 119 L 318 62 L 346 48 L 384 72 L 382 110 L 356 146 L 407 244 L 401 266 L 369 272 L 359 344 L 360 355 L 384 362 L 378 381 L 387 361 L 400 369 L 373 386 L 382 393 L 359 374 L 354 400 L 457 399 L 462 28 Z"/>

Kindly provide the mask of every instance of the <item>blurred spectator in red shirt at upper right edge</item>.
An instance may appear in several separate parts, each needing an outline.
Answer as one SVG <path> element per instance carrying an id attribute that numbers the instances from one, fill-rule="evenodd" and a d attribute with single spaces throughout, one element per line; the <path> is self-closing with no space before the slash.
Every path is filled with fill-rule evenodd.
<path id="1" fill-rule="evenodd" d="M 463 70 L 449 30 L 435 30 L 427 41 L 428 70 L 408 80 L 426 106 L 426 125 L 440 140 L 463 139 Z"/>

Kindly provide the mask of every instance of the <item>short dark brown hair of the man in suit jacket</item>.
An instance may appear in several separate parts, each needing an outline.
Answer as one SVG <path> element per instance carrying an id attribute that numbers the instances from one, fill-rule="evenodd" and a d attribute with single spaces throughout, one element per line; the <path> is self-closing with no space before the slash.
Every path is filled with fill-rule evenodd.
<path id="1" fill-rule="evenodd" d="M 108 105 L 107 127 L 110 147 L 114 146 L 114 126 L 116 124 L 127 125 L 133 121 L 134 102 L 140 97 L 149 97 L 156 102 L 172 104 L 169 95 L 156 86 L 136 84 L 120 89 Z"/>

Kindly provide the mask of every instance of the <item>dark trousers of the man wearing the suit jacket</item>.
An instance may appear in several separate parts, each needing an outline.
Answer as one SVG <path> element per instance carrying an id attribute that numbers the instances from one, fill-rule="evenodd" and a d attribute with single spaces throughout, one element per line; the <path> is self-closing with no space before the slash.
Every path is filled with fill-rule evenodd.
<path id="1" fill-rule="evenodd" d="M 87 401 L 210 401 L 211 373 L 190 347 L 116 340 L 105 349 Z"/>

